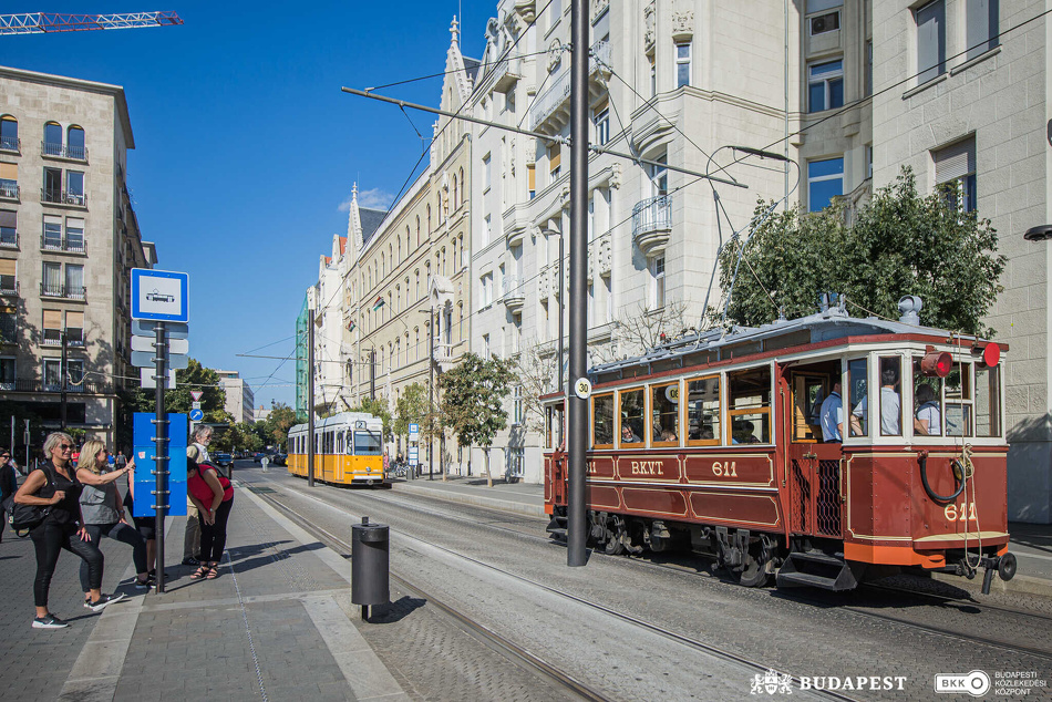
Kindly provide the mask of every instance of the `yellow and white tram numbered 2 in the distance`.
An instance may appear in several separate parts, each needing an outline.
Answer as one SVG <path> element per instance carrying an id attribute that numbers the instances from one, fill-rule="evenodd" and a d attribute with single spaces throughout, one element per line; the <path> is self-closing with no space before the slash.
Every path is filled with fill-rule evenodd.
<path id="1" fill-rule="evenodd" d="M 308 425 L 289 430 L 290 475 L 307 477 Z M 383 421 L 364 412 L 341 412 L 314 422 L 314 479 L 333 485 L 386 485 Z"/>

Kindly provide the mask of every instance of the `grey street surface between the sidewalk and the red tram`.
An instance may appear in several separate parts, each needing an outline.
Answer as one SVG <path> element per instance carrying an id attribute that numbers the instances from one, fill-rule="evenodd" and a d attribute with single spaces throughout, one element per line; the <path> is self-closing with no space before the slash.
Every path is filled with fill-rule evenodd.
<path id="1" fill-rule="evenodd" d="M 283 476 L 269 479 L 281 489 L 303 492 L 302 481 Z M 444 582 L 431 547 L 412 539 L 400 540 L 398 535 L 420 535 L 426 540 L 479 561 L 559 588 L 579 597 L 596 600 L 620 612 L 631 613 L 644 621 L 660 623 L 678 633 L 690 636 L 730 652 L 744 655 L 770 668 L 803 675 L 906 675 L 906 689 L 888 692 L 853 693 L 857 699 L 930 700 L 934 677 L 938 673 L 987 670 L 991 678 L 1001 671 L 1028 671 L 1052 684 L 1052 633 L 1048 613 L 1039 608 L 1032 618 L 1027 615 L 983 609 L 984 601 L 974 606 L 956 603 L 932 605 L 929 601 L 880 601 L 858 593 L 831 595 L 825 599 L 804 599 L 776 589 L 752 590 L 730 585 L 707 571 L 699 562 L 699 572 L 657 570 L 652 564 L 629 558 L 592 556 L 586 568 L 566 568 L 566 553 L 560 547 L 536 539 L 543 534 L 538 523 L 534 538 L 519 538 L 510 531 L 497 530 L 504 526 L 496 513 L 482 514 L 477 507 L 417 499 L 389 492 L 340 491 L 316 488 L 308 502 L 323 499 L 337 509 L 316 508 L 310 513 L 326 528 L 339 529 L 340 524 L 369 515 L 392 527 L 392 569 L 415 576 L 433 587 L 432 592 L 454 603 L 478 621 L 505 636 L 526 636 L 536 649 L 555 649 L 558 660 L 571 659 L 586 651 L 590 668 L 582 663 L 582 674 L 600 682 L 621 685 L 625 675 L 640 660 L 648 661 L 653 675 L 671 672 L 667 661 L 657 660 L 651 651 L 638 649 L 636 659 L 622 660 L 611 654 L 616 641 L 581 640 L 575 647 L 565 632 L 553 628 L 548 640 L 539 636 L 528 638 L 529 630 L 542 618 L 542 609 L 550 609 L 550 601 L 538 603 L 524 597 L 522 590 L 508 584 L 486 584 L 482 568 L 464 568 L 452 584 Z M 416 505 L 414 508 L 413 505 Z M 522 519 L 512 531 L 522 526 Z M 412 579 L 412 578 L 411 578 Z M 947 633 L 910 627 L 867 615 L 895 613 L 921 626 L 945 624 Z M 558 624 L 556 626 L 558 627 Z M 561 628 L 577 634 L 579 622 L 567 619 Z M 1005 647 L 991 647 L 955 636 L 955 631 L 972 636 L 997 633 L 1009 641 L 1018 641 L 1041 649 L 1034 657 Z M 573 637 L 569 639 L 573 641 Z M 522 643 L 522 641 L 519 641 Z M 576 649 L 576 650 L 575 650 Z M 710 671 L 711 674 L 711 671 Z M 747 691 L 751 674 L 736 681 L 738 691 Z M 698 677 L 698 699 L 720 699 L 712 693 L 716 684 L 704 675 Z M 713 686 L 715 685 L 715 686 Z M 630 688 L 622 686 L 621 689 Z M 654 688 L 659 689 L 659 688 Z M 606 689 L 605 689 L 606 690 Z M 667 699 L 679 699 L 682 689 L 667 688 Z M 618 695 L 613 695 L 618 696 Z M 731 698 L 739 696 L 733 692 Z M 744 696 L 747 696 L 747 692 Z M 620 699 L 639 699 L 627 694 Z M 724 698 L 726 699 L 726 698 Z M 1031 699 L 1039 699 L 1031 696 Z"/>

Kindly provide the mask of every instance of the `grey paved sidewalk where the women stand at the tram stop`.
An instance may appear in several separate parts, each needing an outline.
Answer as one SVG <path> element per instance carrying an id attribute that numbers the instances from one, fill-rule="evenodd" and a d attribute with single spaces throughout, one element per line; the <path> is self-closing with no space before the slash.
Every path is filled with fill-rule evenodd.
<path id="1" fill-rule="evenodd" d="M 184 519 L 171 523 L 166 562 L 178 564 Z M 133 575 L 131 549 L 104 541 L 103 550 L 104 589 L 115 589 L 111 582 Z M 102 616 L 81 608 L 87 617 L 80 617 L 73 609 L 82 597 L 75 591 L 78 565 L 72 555 L 60 558 L 52 606 L 60 616 L 79 618 L 70 629 L 34 631 L 29 626 L 32 545 L 28 539 L 0 544 L 0 592 L 7 595 L 0 607 L 4 696 L 408 699 L 352 622 L 358 608 L 350 603 L 350 562 L 244 486 L 236 491 L 227 553 L 215 580 L 192 580 L 192 568 L 171 565 L 164 593 L 132 597 Z"/>

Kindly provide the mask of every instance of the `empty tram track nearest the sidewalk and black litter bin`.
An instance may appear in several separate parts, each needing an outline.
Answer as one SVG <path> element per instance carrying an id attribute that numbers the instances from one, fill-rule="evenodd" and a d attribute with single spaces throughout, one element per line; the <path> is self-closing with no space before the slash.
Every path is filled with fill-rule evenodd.
<path id="1" fill-rule="evenodd" d="M 270 482 L 270 481 L 267 481 L 267 482 Z M 283 487 L 285 489 L 290 489 L 291 492 L 298 493 L 298 494 L 300 494 L 300 495 L 303 496 L 303 497 L 308 497 L 308 498 L 312 498 L 312 499 L 320 499 L 320 498 L 319 498 L 318 496 L 316 496 L 316 495 L 306 495 L 305 493 L 302 493 L 301 491 L 298 491 L 298 489 L 296 489 L 296 488 L 289 488 L 288 486 L 282 486 L 282 487 Z M 251 489 L 251 484 L 249 484 L 249 488 Z M 266 500 L 268 504 L 270 504 L 271 506 L 274 506 L 276 509 L 281 510 L 286 516 L 288 516 L 288 517 L 291 518 L 293 522 L 296 522 L 296 524 L 297 524 L 298 526 L 300 526 L 300 527 L 303 528 L 305 530 L 308 530 L 308 531 L 310 531 L 311 534 L 313 534 L 319 540 L 321 540 L 322 543 L 324 543 L 324 544 L 326 544 L 327 546 L 329 546 L 330 548 L 333 548 L 333 550 L 336 550 L 337 553 L 341 554 L 341 555 L 344 556 L 344 557 L 350 556 L 351 545 L 350 545 L 347 540 L 340 538 L 339 536 L 336 536 L 336 535 L 331 534 L 330 531 L 326 530 L 324 528 L 322 528 L 322 527 L 320 527 L 320 526 L 318 526 L 318 525 L 316 525 L 316 524 L 312 524 L 312 523 L 311 523 L 309 519 L 307 519 L 305 516 L 300 515 L 293 507 L 283 504 L 283 503 L 280 502 L 278 498 L 274 497 L 271 494 L 268 494 L 268 493 L 259 493 L 259 492 L 256 492 L 256 491 L 254 491 L 254 493 L 255 493 L 258 497 L 260 497 L 261 499 Z M 386 495 L 385 495 L 384 497 L 386 498 Z M 332 504 L 332 503 L 329 503 L 328 500 L 321 500 L 321 502 L 326 502 L 326 503 L 327 503 L 330 507 L 332 507 L 332 508 L 336 508 L 336 509 L 340 509 L 340 508 L 341 508 L 339 505 L 334 505 L 334 504 Z M 414 505 L 413 508 L 420 510 L 419 505 Z M 435 513 L 435 516 L 441 516 L 441 517 L 448 518 L 448 515 L 442 515 L 442 514 L 439 514 L 439 513 Z M 486 526 L 487 526 L 487 528 L 501 528 L 501 527 L 495 527 L 494 525 L 486 525 Z M 545 543 L 550 543 L 549 539 L 545 539 L 545 538 L 542 538 L 542 537 L 535 537 L 535 536 L 528 535 L 528 534 L 523 534 L 523 533 L 517 531 L 517 530 L 515 530 L 515 529 L 503 528 L 502 530 L 510 531 L 510 533 L 515 534 L 516 536 L 525 536 L 525 537 L 528 537 L 528 538 L 530 538 L 530 539 L 539 539 L 539 540 L 543 540 L 543 541 L 545 541 Z M 442 551 L 442 553 L 444 553 L 444 554 L 446 554 L 446 555 L 448 555 L 448 556 L 452 556 L 452 557 L 454 557 L 454 558 L 456 558 L 456 559 L 461 559 L 461 560 L 463 560 L 463 561 L 470 562 L 470 564 L 472 564 L 473 566 L 488 569 L 488 570 L 491 570 L 491 571 L 494 571 L 494 572 L 496 572 L 496 574 L 499 574 L 502 577 L 512 578 L 512 579 L 514 579 L 514 580 L 516 580 L 516 581 L 518 581 L 518 582 L 522 582 L 523 585 L 526 585 L 526 586 L 528 586 L 528 587 L 530 587 L 530 588 L 536 588 L 537 590 L 540 590 L 540 591 L 543 591 L 543 592 L 547 592 L 547 593 L 549 593 L 549 595 L 554 595 L 554 596 L 559 597 L 559 598 L 561 598 L 561 599 L 564 599 L 564 600 L 566 600 L 566 601 L 574 602 L 574 603 L 580 605 L 580 606 L 582 606 L 582 607 L 587 607 L 587 608 L 590 609 L 590 610 L 594 610 L 594 611 L 596 611 L 596 612 L 601 612 L 602 615 L 606 615 L 606 616 L 609 616 L 609 617 L 613 617 L 613 618 L 619 619 L 619 620 L 621 620 L 621 621 L 623 621 L 623 622 L 626 622 L 626 623 L 629 623 L 629 624 L 631 624 L 631 626 L 633 626 L 633 627 L 637 627 L 637 628 L 639 628 L 639 629 L 642 629 L 642 630 L 649 631 L 649 632 L 651 632 L 651 633 L 658 634 L 658 636 L 660 636 L 660 637 L 662 637 L 662 638 L 664 638 L 664 639 L 668 639 L 668 640 L 670 640 L 670 641 L 672 641 L 672 642 L 674 642 L 674 643 L 678 643 L 678 644 L 680 644 L 680 646 L 683 646 L 683 647 L 693 649 L 693 650 L 695 650 L 695 651 L 698 651 L 698 652 L 701 652 L 701 653 L 704 653 L 704 654 L 707 654 L 707 655 L 711 655 L 711 657 L 718 658 L 718 659 L 720 659 L 720 660 L 722 660 L 722 661 L 725 661 L 725 662 L 729 662 L 729 663 L 732 663 L 732 664 L 735 664 L 735 665 L 745 668 L 746 670 L 749 670 L 749 671 L 751 671 L 751 672 L 759 673 L 759 674 L 762 675 L 762 674 L 765 674 L 765 673 L 770 672 L 770 670 L 771 670 L 771 665 L 767 665 L 767 664 L 761 663 L 761 662 L 759 662 L 759 661 L 752 660 L 752 659 L 750 659 L 750 658 L 740 655 L 740 654 L 738 654 L 738 653 L 734 653 L 733 651 L 729 651 L 729 650 L 725 650 L 725 649 L 722 649 L 722 648 L 719 648 L 719 647 L 715 647 L 715 646 L 705 643 L 704 641 L 700 641 L 700 640 L 698 640 L 698 639 L 691 638 L 691 637 L 689 637 L 689 636 L 684 636 L 684 634 L 682 634 L 682 633 L 678 633 L 678 632 L 672 631 L 672 630 L 670 630 L 670 629 L 668 629 L 668 628 L 661 627 L 661 626 L 659 626 L 659 624 L 654 624 L 654 623 L 652 623 L 652 622 L 644 621 L 644 620 L 642 620 L 642 619 L 640 619 L 640 618 L 638 618 L 638 617 L 633 617 L 633 616 L 628 615 L 628 613 L 626 613 L 626 612 L 618 611 L 618 610 L 616 610 L 616 609 L 613 609 L 613 608 L 610 608 L 610 607 L 607 607 L 607 606 L 601 605 L 601 603 L 599 603 L 599 602 L 589 600 L 588 598 L 580 597 L 580 596 L 574 595 L 574 593 L 571 593 L 571 592 L 567 592 L 567 591 L 565 591 L 565 590 L 563 590 L 563 589 L 559 589 L 559 588 L 556 588 L 556 587 L 553 587 L 553 586 L 548 586 L 548 585 L 545 585 L 545 584 L 543 584 L 543 582 L 538 582 L 537 580 L 534 580 L 534 579 L 532 579 L 532 578 L 527 578 L 527 577 L 525 577 L 525 576 L 520 576 L 520 575 L 518 575 L 518 574 L 512 572 L 512 571 L 506 570 L 506 569 L 504 569 L 504 568 L 499 568 L 499 567 L 497 567 L 497 566 L 487 564 L 487 562 L 485 562 L 485 561 L 483 561 L 483 560 L 479 560 L 479 559 L 477 559 L 477 558 L 473 558 L 473 557 L 471 557 L 471 556 L 467 556 L 467 555 L 457 553 L 457 551 L 454 550 L 454 549 L 447 548 L 447 547 L 445 547 L 445 546 L 442 546 L 441 544 L 436 544 L 436 543 L 431 541 L 431 540 L 429 540 L 429 539 L 425 539 L 425 538 L 422 538 L 422 537 L 419 537 L 419 536 L 413 536 L 413 535 L 404 534 L 404 533 L 403 533 L 403 534 L 400 534 L 400 537 L 403 538 L 403 539 L 408 539 L 408 540 L 410 540 L 410 541 L 414 541 L 414 543 L 420 544 L 420 545 L 425 545 L 425 546 L 427 546 L 429 548 L 436 549 L 436 550 Z M 481 637 L 481 638 L 485 639 L 486 641 L 493 643 L 494 646 L 496 646 L 496 647 L 499 648 L 501 650 L 505 651 L 507 654 L 509 654 L 509 655 L 510 655 L 512 658 L 514 658 L 515 660 L 517 660 L 517 661 L 519 661 L 520 663 L 527 665 L 528 668 L 530 668 L 532 670 L 534 670 L 534 671 L 537 672 L 538 674 L 542 674 L 542 675 L 544 675 L 545 678 L 547 678 L 547 679 L 549 679 L 549 680 L 551 680 L 551 681 L 554 681 L 554 682 L 557 682 L 560 686 L 565 688 L 566 690 L 573 692 L 574 694 L 577 694 L 577 695 L 581 696 L 581 699 L 586 699 L 586 700 L 607 700 L 607 699 L 608 699 L 608 698 L 605 696 L 602 693 L 597 692 L 596 690 L 594 690 L 594 689 L 592 689 L 591 686 L 589 686 L 588 684 L 586 684 L 586 683 L 584 683 L 584 682 L 581 682 L 581 681 L 575 679 L 574 677 L 571 677 L 571 675 L 565 673 L 564 671 L 559 670 L 557 665 L 554 665 L 554 664 L 551 664 L 551 663 L 548 663 L 547 661 L 540 659 L 539 657 L 537 657 L 537 655 L 530 653 L 529 651 L 527 651 L 527 650 L 524 649 L 523 647 L 519 647 L 518 644 L 514 643 L 513 641 L 508 640 L 507 638 L 502 637 L 499 633 L 493 631 L 492 629 L 489 629 L 489 628 L 487 628 L 487 627 L 485 627 L 485 626 L 478 623 L 477 621 L 475 621 L 474 619 L 472 619 L 470 616 L 467 616 L 467 615 L 461 612 L 460 610 L 457 610 L 457 608 L 455 608 L 454 606 L 452 606 L 452 605 L 450 605 L 450 603 L 447 603 L 447 602 L 442 601 L 440 598 L 436 598 L 436 597 L 434 596 L 434 593 L 431 592 L 431 591 L 429 591 L 429 589 L 427 589 L 426 587 L 422 587 L 422 586 L 420 586 L 420 585 L 413 582 L 410 578 L 406 578 L 405 576 L 395 574 L 395 572 L 393 572 L 393 571 L 391 572 L 391 579 L 392 579 L 392 581 L 396 582 L 396 584 L 399 585 L 399 587 L 403 588 L 404 590 L 414 592 L 414 593 L 419 595 L 421 598 L 426 599 L 429 603 L 434 605 L 434 606 L 435 606 L 437 609 L 440 609 L 444 615 L 448 616 L 451 619 L 453 619 L 454 621 L 456 621 L 458 624 L 468 628 L 468 629 L 470 629 L 474 634 L 476 634 L 477 637 Z M 782 672 L 784 673 L 784 672 L 787 672 L 787 671 L 782 671 Z M 800 680 L 800 677 L 798 677 L 798 675 L 793 675 L 791 672 L 790 672 L 788 674 L 792 677 L 793 681 L 798 681 L 798 680 Z M 840 701 L 848 701 L 848 702 L 858 702 L 858 699 L 857 699 L 857 698 L 853 698 L 853 696 L 846 695 L 846 694 L 840 693 L 840 692 L 837 692 L 837 691 L 809 690 L 808 692 L 809 692 L 811 694 L 814 694 L 814 695 L 817 696 L 818 699 L 825 699 L 825 700 L 840 700 Z"/>

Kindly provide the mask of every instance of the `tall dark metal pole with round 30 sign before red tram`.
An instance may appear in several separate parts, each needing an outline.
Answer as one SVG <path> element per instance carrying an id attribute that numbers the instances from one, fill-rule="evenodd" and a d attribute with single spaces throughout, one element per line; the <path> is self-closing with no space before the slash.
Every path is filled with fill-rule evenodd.
<path id="1" fill-rule="evenodd" d="M 588 2 L 573 0 L 570 34 L 570 365 L 576 385 L 587 374 L 588 338 Z M 561 292 L 561 291 L 560 291 Z M 561 306 L 561 302 L 560 302 Z M 560 310 L 561 316 L 561 310 Z M 559 363 L 563 359 L 559 359 Z M 588 401 L 569 393 L 569 485 L 566 565 L 584 566 L 588 506 L 585 487 L 585 451 L 588 443 Z"/>

